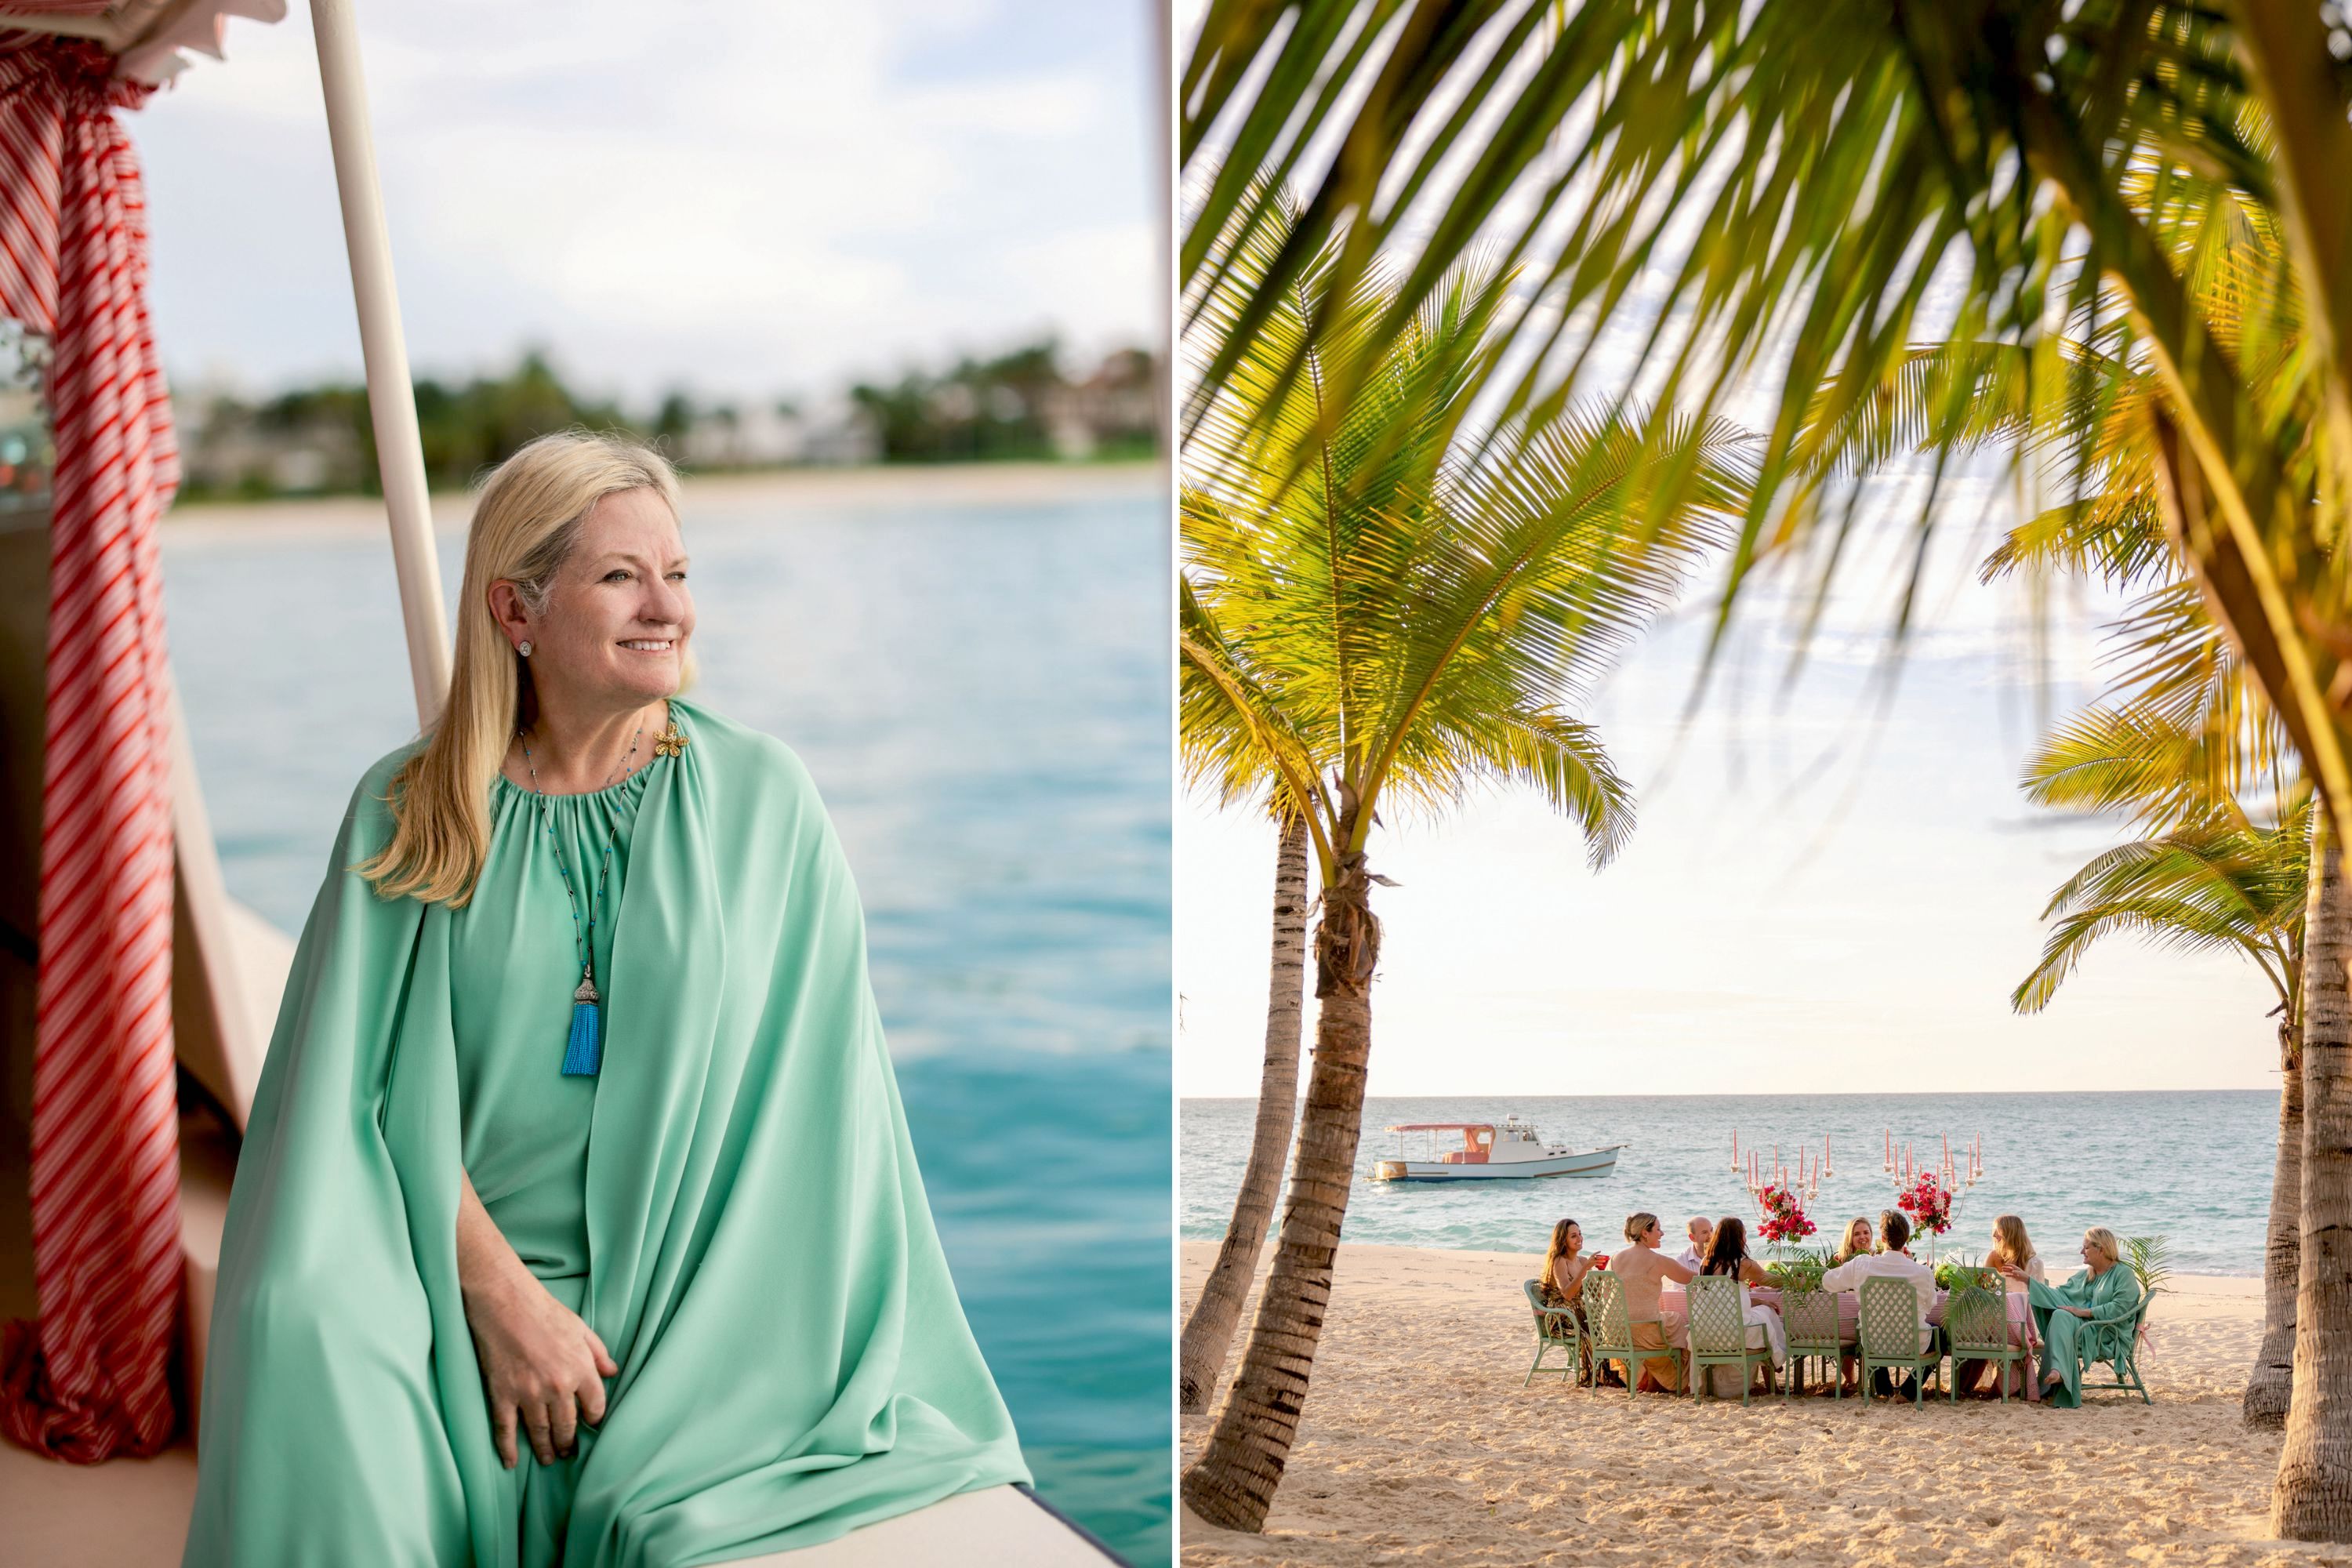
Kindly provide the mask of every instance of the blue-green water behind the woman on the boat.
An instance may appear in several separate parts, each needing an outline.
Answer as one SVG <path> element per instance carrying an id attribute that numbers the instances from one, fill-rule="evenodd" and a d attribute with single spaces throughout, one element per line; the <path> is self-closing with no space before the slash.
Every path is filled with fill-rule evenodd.
<path id="1" fill-rule="evenodd" d="M 1171 1549 L 1164 512 L 687 512 L 694 696 L 826 792 L 964 1309 L 1040 1490 L 1136 1563 Z M 390 545 L 165 527 L 165 599 L 228 889 L 294 933 L 416 729 Z"/>

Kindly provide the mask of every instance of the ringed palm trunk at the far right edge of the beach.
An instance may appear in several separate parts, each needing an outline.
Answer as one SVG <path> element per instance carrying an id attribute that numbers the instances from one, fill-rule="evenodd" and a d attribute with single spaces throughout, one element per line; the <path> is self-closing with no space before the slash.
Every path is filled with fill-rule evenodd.
<path id="1" fill-rule="evenodd" d="M 2303 1267 L 2272 1535 L 2352 1540 L 2352 976 L 2343 856 L 2326 813 L 2303 922 Z"/>

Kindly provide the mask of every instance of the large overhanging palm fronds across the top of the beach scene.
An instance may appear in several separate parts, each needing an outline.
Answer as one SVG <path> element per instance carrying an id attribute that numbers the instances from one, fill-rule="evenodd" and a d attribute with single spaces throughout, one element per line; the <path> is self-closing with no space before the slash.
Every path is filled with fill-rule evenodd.
<path id="1" fill-rule="evenodd" d="M 1319 367 L 1334 404 L 1475 242 L 1536 280 L 1498 327 L 1517 353 L 1484 367 L 1498 425 L 1573 407 L 1618 329 L 1700 421 L 1776 381 L 1726 616 L 1759 557 L 1853 522 L 1825 475 L 1856 454 L 1818 437 L 1898 381 L 1931 284 L 1945 336 L 2018 348 L 2042 381 L 2082 313 L 2122 320 L 2164 390 L 2154 496 L 2343 827 L 2352 73 L 2328 45 L 2307 0 L 1211 0 L 1183 73 L 1181 270 L 1214 280 L 1214 235 L 1263 226 L 1265 181 L 1319 162 L 1254 310 L 1331 242 L 1334 299 L 1409 256 L 1374 331 Z M 2274 263 L 2204 289 L 2232 226 L 2272 228 Z M 1256 320 L 1204 367 L 1192 428 Z M 1823 386 L 1832 418 L 1809 418 Z M 1945 423 L 1938 458 L 1966 442 Z"/>

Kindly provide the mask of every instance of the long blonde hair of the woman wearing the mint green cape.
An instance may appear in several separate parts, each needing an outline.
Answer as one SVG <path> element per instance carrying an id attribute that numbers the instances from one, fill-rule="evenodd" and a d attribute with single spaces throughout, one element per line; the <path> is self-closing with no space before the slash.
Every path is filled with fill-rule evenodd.
<path id="1" fill-rule="evenodd" d="M 393 773 L 390 842 L 353 865 L 381 898 L 416 896 L 461 907 L 489 853 L 489 788 L 506 743 L 536 715 L 527 661 L 489 614 L 489 585 L 510 581 L 534 616 L 546 614 L 555 574 L 579 543 L 595 503 L 652 489 L 680 515 L 677 470 L 628 440 L 581 428 L 527 442 L 482 482 L 466 529 L 466 585 L 456 602 L 449 701 L 426 743 Z M 694 651 L 680 665 L 694 684 Z"/>

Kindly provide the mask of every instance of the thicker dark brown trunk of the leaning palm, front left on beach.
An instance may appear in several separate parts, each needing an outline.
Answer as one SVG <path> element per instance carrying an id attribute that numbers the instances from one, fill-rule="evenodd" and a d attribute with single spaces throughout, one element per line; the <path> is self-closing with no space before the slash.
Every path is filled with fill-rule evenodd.
<path id="1" fill-rule="evenodd" d="M 1343 823 L 1338 842 L 1348 842 Z M 1371 969 L 1381 922 L 1371 917 L 1364 856 L 1341 860 L 1324 884 L 1315 922 L 1315 1072 L 1298 1119 L 1289 1201 L 1275 1267 L 1249 1326 L 1242 1371 L 1200 1460 L 1183 1474 L 1183 1500 L 1204 1523 L 1258 1530 L 1282 1486 L 1308 1373 L 1331 1302 L 1331 1260 L 1348 1218 L 1355 1145 L 1364 1131 L 1364 1065 L 1371 1056 Z"/>

